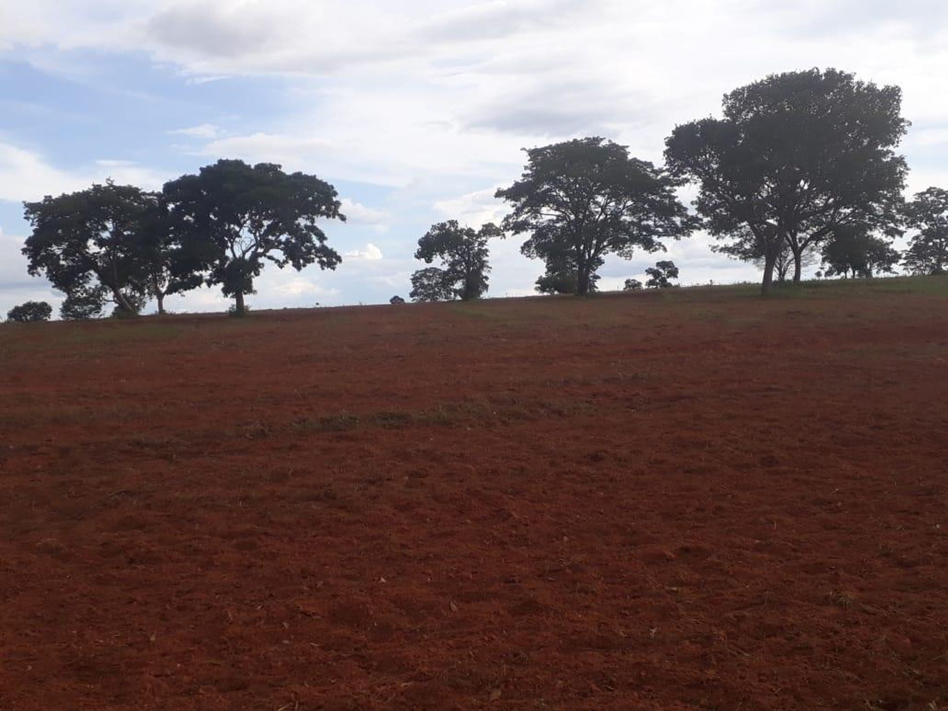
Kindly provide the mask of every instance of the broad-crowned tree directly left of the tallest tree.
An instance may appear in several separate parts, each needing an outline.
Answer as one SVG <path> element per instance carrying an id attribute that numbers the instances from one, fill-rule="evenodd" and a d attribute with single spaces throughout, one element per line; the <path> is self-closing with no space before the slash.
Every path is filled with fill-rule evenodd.
<path id="1" fill-rule="evenodd" d="M 662 239 L 684 237 L 694 227 L 675 196 L 681 181 L 629 157 L 626 146 L 576 138 L 526 154 L 520 180 L 496 193 L 513 205 L 502 228 L 530 233 L 520 251 L 544 260 L 548 275 L 563 273 L 563 264 L 574 267 L 580 296 L 592 290 L 606 255 L 629 259 L 636 247 L 662 250 Z"/>

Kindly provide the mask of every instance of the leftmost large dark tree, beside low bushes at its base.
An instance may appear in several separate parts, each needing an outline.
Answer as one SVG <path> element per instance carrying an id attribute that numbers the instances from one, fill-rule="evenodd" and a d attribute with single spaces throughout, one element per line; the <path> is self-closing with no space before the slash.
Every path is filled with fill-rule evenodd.
<path id="1" fill-rule="evenodd" d="M 24 203 L 29 273 L 66 294 L 64 318 L 98 316 L 109 301 L 137 314 L 147 293 L 141 226 L 152 205 L 149 193 L 112 181 Z"/>

